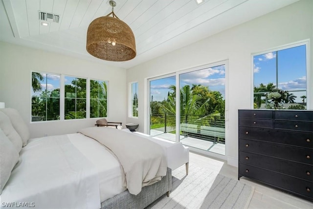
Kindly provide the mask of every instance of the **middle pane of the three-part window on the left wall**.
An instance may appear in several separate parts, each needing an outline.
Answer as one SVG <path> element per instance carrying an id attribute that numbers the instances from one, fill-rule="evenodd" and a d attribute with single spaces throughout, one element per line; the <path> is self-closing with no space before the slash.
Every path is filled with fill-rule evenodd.
<path id="1" fill-rule="evenodd" d="M 65 76 L 65 119 L 86 118 L 86 78 Z"/>

